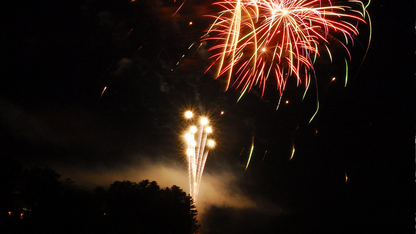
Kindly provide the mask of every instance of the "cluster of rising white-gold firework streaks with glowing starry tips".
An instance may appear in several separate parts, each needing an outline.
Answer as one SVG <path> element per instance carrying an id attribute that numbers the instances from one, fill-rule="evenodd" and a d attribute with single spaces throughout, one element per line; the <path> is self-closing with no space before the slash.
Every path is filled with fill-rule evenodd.
<path id="1" fill-rule="evenodd" d="M 192 112 L 186 112 L 185 117 L 191 119 L 193 117 Z M 208 134 L 212 132 L 212 128 L 208 126 L 208 118 L 200 117 L 198 120 L 197 126 L 192 125 L 189 128 L 189 132 L 185 134 L 189 189 L 190 194 L 195 201 L 198 196 L 202 172 L 208 157 L 209 149 L 215 145 L 215 142 L 212 139 L 208 139 L 207 142 Z"/>

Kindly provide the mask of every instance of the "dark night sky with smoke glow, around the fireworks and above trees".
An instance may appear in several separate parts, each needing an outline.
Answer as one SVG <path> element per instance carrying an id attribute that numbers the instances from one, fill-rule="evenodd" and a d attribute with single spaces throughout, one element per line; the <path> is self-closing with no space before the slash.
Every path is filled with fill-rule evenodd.
<path id="1" fill-rule="evenodd" d="M 313 89 L 301 102 L 303 90 L 288 82 L 282 100 L 290 102 L 276 110 L 272 86 L 263 98 L 252 90 L 236 102 L 238 91 L 204 74 L 209 45 L 196 45 L 212 2 L 187 0 L 174 17 L 181 1 L 4 7 L 3 157 L 47 165 L 85 187 L 151 179 L 186 190 L 179 135 L 181 113 L 193 108 L 211 117 L 218 142 L 204 171 L 201 232 L 413 232 L 415 6 L 371 2 L 369 52 L 358 70 L 364 27 L 347 87 L 342 78 L 330 83 L 344 75 L 337 48 L 332 64 L 317 61 L 319 112 L 308 124 Z"/>

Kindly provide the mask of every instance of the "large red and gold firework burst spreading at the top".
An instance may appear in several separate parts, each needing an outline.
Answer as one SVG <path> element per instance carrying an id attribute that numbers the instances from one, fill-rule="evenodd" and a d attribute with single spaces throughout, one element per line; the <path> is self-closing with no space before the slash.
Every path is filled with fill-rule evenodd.
<path id="1" fill-rule="evenodd" d="M 226 90 L 235 86 L 241 95 L 253 86 L 262 89 L 263 95 L 269 77 L 277 82 L 280 96 L 290 76 L 296 77 L 298 85 L 304 82 L 307 88 L 310 73 L 314 75 L 314 60 L 320 52 L 328 53 L 332 61 L 329 41 L 335 39 L 351 59 L 347 43 L 358 35 L 359 23 L 366 23 L 368 5 L 359 0 L 346 1 L 346 5 L 337 5 L 339 2 L 223 0 L 214 3 L 224 10 L 211 15 L 215 21 L 203 39 L 215 40 L 210 48 L 215 51 L 211 57 L 214 62 L 207 71 L 217 67 L 216 77 L 227 77 Z"/>

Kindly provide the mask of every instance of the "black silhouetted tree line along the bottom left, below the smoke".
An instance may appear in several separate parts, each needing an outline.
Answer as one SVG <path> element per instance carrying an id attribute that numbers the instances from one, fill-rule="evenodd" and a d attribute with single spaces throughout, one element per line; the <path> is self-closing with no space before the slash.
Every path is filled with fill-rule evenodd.
<path id="1" fill-rule="evenodd" d="M 127 180 L 89 191 L 52 169 L 24 169 L 12 159 L 0 169 L 1 233 L 198 232 L 194 201 L 176 185 Z"/>

